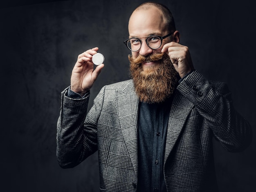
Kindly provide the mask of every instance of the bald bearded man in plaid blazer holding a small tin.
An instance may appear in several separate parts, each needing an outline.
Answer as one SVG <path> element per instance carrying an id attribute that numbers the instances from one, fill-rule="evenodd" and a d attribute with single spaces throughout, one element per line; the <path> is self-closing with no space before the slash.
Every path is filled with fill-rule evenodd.
<path id="1" fill-rule="evenodd" d="M 244 150 L 251 128 L 232 106 L 225 83 L 204 78 L 170 10 L 146 2 L 130 16 L 132 79 L 104 86 L 87 114 L 98 47 L 78 56 L 61 93 L 57 159 L 74 167 L 98 150 L 100 191 L 216 192 L 212 138 Z"/>

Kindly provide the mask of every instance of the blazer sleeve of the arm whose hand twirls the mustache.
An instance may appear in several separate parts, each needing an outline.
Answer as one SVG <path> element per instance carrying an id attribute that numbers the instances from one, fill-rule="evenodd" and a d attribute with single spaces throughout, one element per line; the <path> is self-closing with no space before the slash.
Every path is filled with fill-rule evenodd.
<path id="1" fill-rule="evenodd" d="M 229 152 L 240 152 L 252 141 L 252 129 L 232 105 L 225 83 L 207 80 L 193 71 L 177 87 L 208 122 L 214 136 Z"/>

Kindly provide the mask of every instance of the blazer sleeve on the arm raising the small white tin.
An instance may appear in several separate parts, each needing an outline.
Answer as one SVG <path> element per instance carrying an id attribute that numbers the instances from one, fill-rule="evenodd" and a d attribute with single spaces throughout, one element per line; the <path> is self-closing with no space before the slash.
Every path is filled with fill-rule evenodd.
<path id="1" fill-rule="evenodd" d="M 74 167 L 97 151 L 97 119 L 101 111 L 99 102 L 90 110 L 93 118 L 85 123 L 90 94 L 85 98 L 73 99 L 66 96 L 67 90 L 68 88 L 61 92 L 61 111 L 56 134 L 56 156 L 63 168 Z M 103 95 L 102 92 L 98 98 Z"/>

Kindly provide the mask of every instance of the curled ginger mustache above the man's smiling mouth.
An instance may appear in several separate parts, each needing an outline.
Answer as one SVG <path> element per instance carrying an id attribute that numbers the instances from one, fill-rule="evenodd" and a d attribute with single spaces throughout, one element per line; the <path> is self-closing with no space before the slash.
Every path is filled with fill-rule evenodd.
<path id="1" fill-rule="evenodd" d="M 130 62 L 139 65 L 139 64 L 141 64 L 143 62 L 150 62 L 150 61 L 161 60 L 161 59 L 164 58 L 165 54 L 166 53 L 161 53 L 161 54 L 153 53 L 153 54 L 151 54 L 149 56 L 142 56 L 141 54 L 139 54 L 139 56 L 137 58 L 132 58 L 132 55 L 130 54 L 128 56 L 128 59 L 129 59 Z"/>

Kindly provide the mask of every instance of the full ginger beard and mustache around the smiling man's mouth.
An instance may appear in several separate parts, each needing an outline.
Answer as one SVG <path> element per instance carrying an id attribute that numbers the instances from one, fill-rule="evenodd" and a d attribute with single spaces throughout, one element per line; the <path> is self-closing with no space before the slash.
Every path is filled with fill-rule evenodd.
<path id="1" fill-rule="evenodd" d="M 139 55 L 135 59 L 129 55 L 128 58 L 135 91 L 141 102 L 162 103 L 173 94 L 180 76 L 167 54 Z M 146 60 L 159 61 L 160 64 L 143 69 L 141 63 Z"/>

